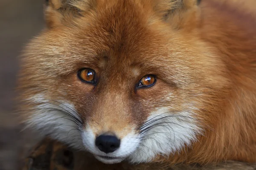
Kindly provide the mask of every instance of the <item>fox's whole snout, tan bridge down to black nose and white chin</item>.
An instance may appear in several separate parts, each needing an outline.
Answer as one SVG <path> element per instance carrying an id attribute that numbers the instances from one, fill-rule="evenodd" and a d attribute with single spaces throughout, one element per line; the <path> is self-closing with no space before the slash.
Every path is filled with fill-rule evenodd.
<path id="1" fill-rule="evenodd" d="M 82 130 L 84 146 L 105 163 L 117 163 L 131 155 L 139 144 L 138 124 L 128 96 L 99 94 Z"/>

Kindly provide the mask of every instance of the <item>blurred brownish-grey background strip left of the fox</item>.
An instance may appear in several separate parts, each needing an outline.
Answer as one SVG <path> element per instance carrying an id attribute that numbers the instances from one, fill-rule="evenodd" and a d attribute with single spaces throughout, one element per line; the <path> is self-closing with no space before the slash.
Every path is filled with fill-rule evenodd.
<path id="1" fill-rule="evenodd" d="M 0 170 L 18 170 L 23 150 L 35 141 L 21 132 L 15 110 L 18 55 L 24 45 L 44 28 L 44 0 L 0 0 Z M 26 142 L 25 140 L 26 139 Z"/>

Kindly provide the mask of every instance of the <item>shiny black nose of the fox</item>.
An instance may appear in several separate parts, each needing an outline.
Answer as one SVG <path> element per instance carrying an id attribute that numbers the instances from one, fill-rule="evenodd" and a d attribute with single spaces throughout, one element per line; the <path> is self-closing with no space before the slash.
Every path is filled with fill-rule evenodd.
<path id="1" fill-rule="evenodd" d="M 111 153 L 119 148 L 120 139 L 116 136 L 100 135 L 96 138 L 95 144 L 102 152 Z"/>

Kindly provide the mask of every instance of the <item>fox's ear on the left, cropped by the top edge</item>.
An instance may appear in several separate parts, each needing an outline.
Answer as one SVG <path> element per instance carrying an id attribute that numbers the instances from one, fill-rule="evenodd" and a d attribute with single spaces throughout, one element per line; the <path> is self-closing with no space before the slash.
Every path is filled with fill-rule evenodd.
<path id="1" fill-rule="evenodd" d="M 81 17 L 95 6 L 96 0 L 45 0 L 45 20 L 53 28 Z"/>

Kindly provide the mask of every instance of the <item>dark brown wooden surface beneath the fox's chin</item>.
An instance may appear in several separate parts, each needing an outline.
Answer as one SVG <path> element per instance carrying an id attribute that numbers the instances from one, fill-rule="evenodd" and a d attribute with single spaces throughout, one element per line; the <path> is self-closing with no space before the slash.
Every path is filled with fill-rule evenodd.
<path id="1" fill-rule="evenodd" d="M 44 139 L 26 159 L 23 170 L 256 170 L 256 164 L 228 161 L 216 165 L 166 167 L 163 164 L 103 164 L 90 154 L 74 151 L 59 142 Z"/>

